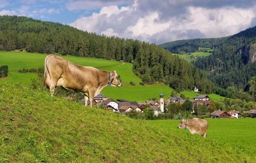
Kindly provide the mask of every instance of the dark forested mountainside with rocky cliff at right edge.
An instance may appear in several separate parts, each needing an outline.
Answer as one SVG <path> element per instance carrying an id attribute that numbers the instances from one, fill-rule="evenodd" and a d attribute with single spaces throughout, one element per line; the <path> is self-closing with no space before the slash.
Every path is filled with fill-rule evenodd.
<path id="1" fill-rule="evenodd" d="M 255 44 L 256 27 L 248 28 L 228 38 L 211 56 L 192 62 L 208 71 L 208 79 L 218 86 L 235 86 L 241 90 L 251 77 L 256 76 Z"/>

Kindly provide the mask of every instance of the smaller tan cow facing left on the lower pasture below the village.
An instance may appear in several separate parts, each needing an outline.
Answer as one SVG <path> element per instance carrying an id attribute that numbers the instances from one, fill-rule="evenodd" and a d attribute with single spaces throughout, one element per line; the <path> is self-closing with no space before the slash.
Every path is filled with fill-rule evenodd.
<path id="1" fill-rule="evenodd" d="M 179 126 L 177 127 L 178 129 L 188 128 L 191 134 L 203 135 L 204 138 L 206 138 L 208 122 L 199 118 L 193 118 L 189 120 L 182 119 Z"/>

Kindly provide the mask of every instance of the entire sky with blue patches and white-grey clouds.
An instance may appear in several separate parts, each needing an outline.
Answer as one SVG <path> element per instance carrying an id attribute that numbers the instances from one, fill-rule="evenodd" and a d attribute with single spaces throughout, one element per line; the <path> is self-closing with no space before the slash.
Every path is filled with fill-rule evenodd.
<path id="1" fill-rule="evenodd" d="M 256 25 L 255 0 L 0 0 L 0 15 L 157 44 L 224 37 Z"/>

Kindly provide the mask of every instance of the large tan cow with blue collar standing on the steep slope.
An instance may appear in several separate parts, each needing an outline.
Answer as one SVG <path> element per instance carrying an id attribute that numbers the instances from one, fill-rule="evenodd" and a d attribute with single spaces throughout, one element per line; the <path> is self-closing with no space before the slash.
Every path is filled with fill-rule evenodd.
<path id="1" fill-rule="evenodd" d="M 94 67 L 76 65 L 67 59 L 49 54 L 44 61 L 44 86 L 53 96 L 55 87 L 84 93 L 85 105 L 93 107 L 93 98 L 108 84 L 121 87 L 116 71 L 102 71 Z"/>

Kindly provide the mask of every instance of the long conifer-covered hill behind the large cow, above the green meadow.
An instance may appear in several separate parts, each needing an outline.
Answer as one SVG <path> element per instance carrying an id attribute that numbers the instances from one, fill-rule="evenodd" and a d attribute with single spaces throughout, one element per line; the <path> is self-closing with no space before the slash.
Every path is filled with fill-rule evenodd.
<path id="1" fill-rule="evenodd" d="M 25 48 L 27 52 L 122 60 L 132 63 L 135 75 L 146 84 L 161 82 L 178 92 L 195 86 L 202 92 L 212 92 L 208 89 L 212 83 L 207 82 L 203 70 L 170 55 L 159 45 L 97 35 L 28 17 L 0 16 L 0 29 L 0 51 Z"/>

